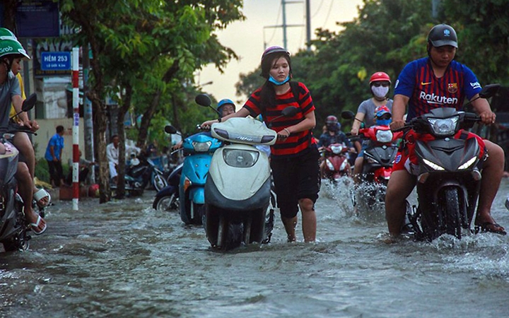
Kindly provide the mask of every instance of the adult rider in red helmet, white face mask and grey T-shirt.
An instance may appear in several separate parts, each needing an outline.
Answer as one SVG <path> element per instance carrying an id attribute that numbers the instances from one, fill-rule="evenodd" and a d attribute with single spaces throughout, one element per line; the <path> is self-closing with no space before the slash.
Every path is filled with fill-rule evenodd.
<path id="1" fill-rule="evenodd" d="M 373 97 L 368 100 L 364 100 L 361 102 L 361 105 L 359 105 L 350 131 L 353 136 L 358 135 L 361 123 L 364 122 L 366 128 L 375 125 L 375 114 L 380 107 L 385 106 L 390 112 L 392 111 L 392 100 L 387 98 L 390 85 L 390 77 L 385 72 L 378 71 L 373 73 L 370 77 L 369 86 Z M 363 142 L 361 151 L 358 152 L 355 164 L 353 165 L 353 180 L 356 183 L 358 183 L 361 179 L 359 174 L 362 172 L 364 163 L 363 154 L 367 146 L 368 143 Z"/>

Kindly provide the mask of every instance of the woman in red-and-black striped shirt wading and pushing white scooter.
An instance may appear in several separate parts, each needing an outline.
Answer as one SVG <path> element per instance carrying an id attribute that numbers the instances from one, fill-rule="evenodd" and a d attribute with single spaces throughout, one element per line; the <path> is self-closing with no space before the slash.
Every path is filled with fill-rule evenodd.
<path id="1" fill-rule="evenodd" d="M 290 54 L 283 47 L 269 47 L 262 54 L 262 73 L 265 83 L 250 95 L 245 105 L 220 120 L 201 124 L 209 128 L 215 122 L 233 117 L 256 118 L 262 114 L 264 122 L 271 122 L 278 140 L 271 146 L 271 169 L 274 177 L 281 220 L 288 242 L 296 241 L 297 213 L 302 212 L 305 242 L 316 239 L 315 202 L 320 192 L 320 166 L 312 131 L 315 127 L 315 105 L 303 83 L 291 82 Z M 281 117 L 281 111 L 296 106 L 300 112 L 294 117 Z"/>

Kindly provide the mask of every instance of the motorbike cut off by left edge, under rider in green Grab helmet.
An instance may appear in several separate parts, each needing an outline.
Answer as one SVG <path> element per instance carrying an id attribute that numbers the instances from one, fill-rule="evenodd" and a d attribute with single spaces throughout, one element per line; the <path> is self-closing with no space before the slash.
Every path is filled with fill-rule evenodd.
<path id="1" fill-rule="evenodd" d="M 35 94 L 30 95 L 23 101 L 22 112 L 34 107 L 37 102 Z M 23 199 L 18 194 L 16 182 L 16 170 L 18 168 L 18 149 L 8 141 L 16 131 L 27 131 L 16 129 L 14 131 L 4 130 L 1 132 L 1 143 L 6 145 L 7 151 L 0 155 L 0 250 L 14 251 L 25 250 L 30 247 L 30 224 L 23 213 Z M 10 136 L 9 136 L 10 135 Z M 39 213 L 44 213 L 41 209 Z"/>

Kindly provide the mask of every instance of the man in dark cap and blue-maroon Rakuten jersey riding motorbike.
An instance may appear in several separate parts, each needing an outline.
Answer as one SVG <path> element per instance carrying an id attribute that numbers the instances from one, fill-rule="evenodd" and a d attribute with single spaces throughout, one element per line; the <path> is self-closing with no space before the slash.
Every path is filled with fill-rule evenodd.
<path id="1" fill-rule="evenodd" d="M 435 25 L 428 34 L 428 57 L 411 61 L 399 74 L 394 90 L 392 104 L 391 129 L 404 126 L 403 116 L 406 105 L 406 121 L 428 113 L 438 107 L 462 108 L 464 98 L 472 100 L 474 110 L 481 117 L 483 124 L 493 124 L 496 115 L 491 112 L 488 101 L 478 97 L 481 85 L 475 74 L 463 64 L 454 61 L 457 49 L 455 30 L 446 24 Z M 478 138 L 478 137 L 477 137 Z M 481 141 L 482 142 L 482 141 Z M 491 217 L 491 204 L 500 185 L 504 153 L 500 146 L 491 141 L 484 141 L 488 158 L 482 170 L 479 205 L 474 224 L 476 230 L 495 232 L 505 235 L 506 232 Z M 385 197 L 385 216 L 390 235 L 398 236 L 404 223 L 406 210 L 405 199 L 415 186 L 415 177 L 404 167 L 408 155 L 394 163 L 394 170 L 387 184 Z"/>

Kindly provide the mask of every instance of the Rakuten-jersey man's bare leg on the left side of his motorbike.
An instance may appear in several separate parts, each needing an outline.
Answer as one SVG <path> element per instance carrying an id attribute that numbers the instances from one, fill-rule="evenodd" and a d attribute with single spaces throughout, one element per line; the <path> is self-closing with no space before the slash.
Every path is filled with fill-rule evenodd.
<path id="1" fill-rule="evenodd" d="M 385 218 L 389 234 L 397 237 L 404 225 L 406 197 L 414 189 L 414 177 L 406 170 L 393 171 L 385 194 Z"/>

